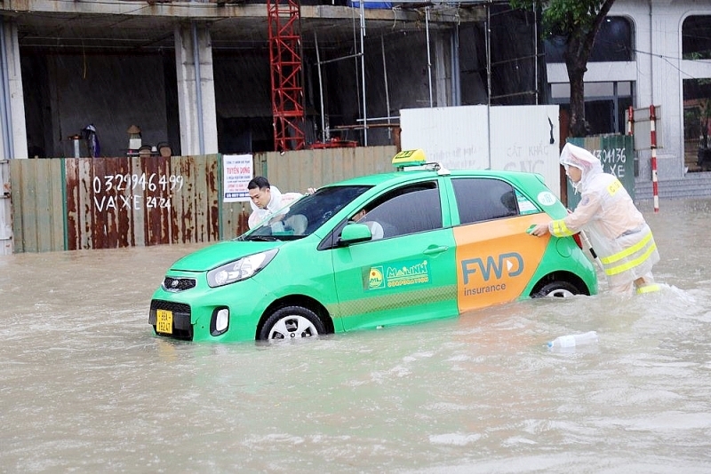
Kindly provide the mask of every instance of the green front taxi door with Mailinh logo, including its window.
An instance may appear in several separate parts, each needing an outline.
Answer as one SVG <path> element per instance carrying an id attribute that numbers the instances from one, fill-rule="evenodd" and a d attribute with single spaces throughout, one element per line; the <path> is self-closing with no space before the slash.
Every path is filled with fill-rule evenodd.
<path id="1" fill-rule="evenodd" d="M 456 249 L 440 194 L 436 179 L 391 191 L 364 217 L 382 226 L 382 238 L 332 250 L 344 330 L 458 314 Z"/>

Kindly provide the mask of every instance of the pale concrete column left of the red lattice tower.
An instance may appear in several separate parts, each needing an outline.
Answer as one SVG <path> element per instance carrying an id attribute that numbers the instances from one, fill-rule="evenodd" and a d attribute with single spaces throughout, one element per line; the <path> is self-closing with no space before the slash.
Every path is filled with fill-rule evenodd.
<path id="1" fill-rule="evenodd" d="M 206 23 L 175 28 L 180 154 L 215 154 L 217 114 L 212 73 L 212 41 Z"/>

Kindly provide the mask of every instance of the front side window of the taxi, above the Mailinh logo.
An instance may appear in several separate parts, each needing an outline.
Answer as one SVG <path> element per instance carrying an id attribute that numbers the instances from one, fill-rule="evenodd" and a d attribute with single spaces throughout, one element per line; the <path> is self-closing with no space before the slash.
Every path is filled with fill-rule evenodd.
<path id="1" fill-rule="evenodd" d="M 403 186 L 371 202 L 367 220 L 383 227 L 383 238 L 442 228 L 442 206 L 436 183 Z"/>

